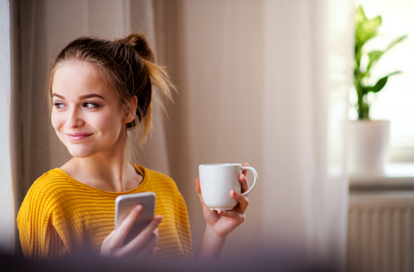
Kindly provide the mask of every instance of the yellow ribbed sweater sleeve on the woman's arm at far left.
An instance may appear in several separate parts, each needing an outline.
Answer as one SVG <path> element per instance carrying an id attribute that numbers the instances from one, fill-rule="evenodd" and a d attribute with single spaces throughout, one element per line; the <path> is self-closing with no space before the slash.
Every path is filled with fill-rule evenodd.
<path id="1" fill-rule="evenodd" d="M 21 248 L 27 259 L 63 258 L 68 255 L 66 247 L 52 224 L 52 211 L 47 207 L 50 187 L 43 184 L 41 178 L 28 191 L 17 216 Z"/>

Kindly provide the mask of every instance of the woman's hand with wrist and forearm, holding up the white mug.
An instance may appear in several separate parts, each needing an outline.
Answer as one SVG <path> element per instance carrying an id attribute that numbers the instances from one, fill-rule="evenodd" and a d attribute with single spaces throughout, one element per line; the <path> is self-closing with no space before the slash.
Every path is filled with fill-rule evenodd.
<path id="1" fill-rule="evenodd" d="M 244 163 L 243 166 L 248 166 L 248 163 Z M 239 180 L 242 183 L 242 193 L 249 189 L 246 172 L 247 170 L 243 171 L 243 174 L 239 176 Z M 203 205 L 204 218 L 206 218 L 207 222 L 206 232 L 204 233 L 204 238 L 201 241 L 196 256 L 217 259 L 224 246 L 224 242 L 226 242 L 228 233 L 244 222 L 244 212 L 248 206 L 248 199 L 242 193 L 237 193 L 232 190 L 230 191 L 230 196 L 239 203 L 230 211 L 221 209 L 212 211 L 204 204 L 203 196 L 201 196 L 199 178 L 195 179 L 195 191 L 197 191 L 201 205 Z"/>

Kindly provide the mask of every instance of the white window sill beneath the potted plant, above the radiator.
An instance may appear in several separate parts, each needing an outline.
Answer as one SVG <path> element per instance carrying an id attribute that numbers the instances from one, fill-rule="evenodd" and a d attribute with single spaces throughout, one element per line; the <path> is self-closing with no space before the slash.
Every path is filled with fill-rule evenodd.
<path id="1" fill-rule="evenodd" d="M 351 176 L 351 191 L 414 189 L 414 163 L 390 163 L 383 175 Z"/>

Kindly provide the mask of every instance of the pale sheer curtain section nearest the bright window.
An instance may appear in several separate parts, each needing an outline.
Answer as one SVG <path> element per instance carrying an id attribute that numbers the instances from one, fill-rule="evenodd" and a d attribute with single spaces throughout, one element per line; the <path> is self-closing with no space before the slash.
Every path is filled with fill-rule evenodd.
<path id="1" fill-rule="evenodd" d="M 344 267 L 353 8 L 265 1 L 264 10 L 264 175 L 274 178 L 263 199 L 275 211 L 264 228 L 268 236 L 278 229 L 267 241 Z"/>

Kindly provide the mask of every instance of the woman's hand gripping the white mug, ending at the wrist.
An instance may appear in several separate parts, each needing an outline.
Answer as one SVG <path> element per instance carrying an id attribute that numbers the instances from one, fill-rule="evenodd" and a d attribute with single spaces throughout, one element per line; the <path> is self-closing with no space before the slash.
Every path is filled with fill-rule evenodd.
<path id="1" fill-rule="evenodd" d="M 248 166 L 248 163 L 244 163 L 243 166 Z M 239 180 L 242 183 L 242 192 L 249 189 L 246 179 L 246 172 L 247 170 L 243 171 L 243 174 L 239 176 Z M 232 210 L 224 211 L 218 209 L 217 211 L 212 211 L 204 204 L 203 197 L 201 196 L 199 178 L 195 179 L 195 191 L 197 191 L 197 194 L 201 200 L 201 205 L 203 205 L 204 218 L 206 218 L 207 228 L 210 231 L 213 231 L 217 238 L 226 238 L 228 233 L 244 222 L 244 212 L 248 206 L 248 199 L 246 196 L 243 196 L 242 193 L 237 193 L 233 190 L 230 191 L 230 196 L 239 202 Z"/>

